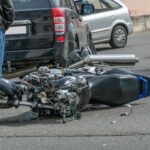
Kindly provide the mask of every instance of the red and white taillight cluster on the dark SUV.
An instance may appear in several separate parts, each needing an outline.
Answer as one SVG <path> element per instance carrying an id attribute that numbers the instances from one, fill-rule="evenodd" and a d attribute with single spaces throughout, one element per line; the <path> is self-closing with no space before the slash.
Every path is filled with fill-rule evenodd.
<path id="1" fill-rule="evenodd" d="M 52 8 L 54 32 L 65 32 L 65 15 L 61 8 Z"/>

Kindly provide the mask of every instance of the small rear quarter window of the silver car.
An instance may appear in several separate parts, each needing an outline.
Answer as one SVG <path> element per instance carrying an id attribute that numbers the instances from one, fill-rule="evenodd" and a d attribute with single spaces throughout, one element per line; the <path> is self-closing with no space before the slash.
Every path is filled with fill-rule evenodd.
<path id="1" fill-rule="evenodd" d="M 114 10 L 121 7 L 117 2 L 113 0 L 101 0 L 101 5 L 103 11 Z"/>

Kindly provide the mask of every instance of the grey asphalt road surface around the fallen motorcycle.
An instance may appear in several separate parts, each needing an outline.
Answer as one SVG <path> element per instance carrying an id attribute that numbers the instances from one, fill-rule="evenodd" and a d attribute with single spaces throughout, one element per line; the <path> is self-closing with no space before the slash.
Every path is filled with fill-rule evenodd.
<path id="1" fill-rule="evenodd" d="M 150 76 L 150 32 L 131 35 L 123 49 L 99 45 L 97 50 L 134 53 L 139 63 L 125 68 Z M 149 150 L 150 98 L 131 105 L 90 108 L 66 124 L 58 118 L 35 119 L 28 108 L 0 110 L 0 150 Z"/>

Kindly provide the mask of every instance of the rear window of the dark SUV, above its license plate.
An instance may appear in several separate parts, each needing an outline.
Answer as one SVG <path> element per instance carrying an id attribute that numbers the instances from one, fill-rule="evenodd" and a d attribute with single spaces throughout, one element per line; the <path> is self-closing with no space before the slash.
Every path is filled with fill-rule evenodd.
<path id="1" fill-rule="evenodd" d="M 15 10 L 49 8 L 49 0 L 13 0 Z"/>

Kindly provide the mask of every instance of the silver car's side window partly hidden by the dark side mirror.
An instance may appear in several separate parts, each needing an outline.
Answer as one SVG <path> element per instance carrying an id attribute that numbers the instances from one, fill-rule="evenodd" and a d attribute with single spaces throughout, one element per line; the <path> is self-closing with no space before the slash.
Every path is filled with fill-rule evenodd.
<path id="1" fill-rule="evenodd" d="M 81 8 L 83 4 L 93 4 L 95 11 L 94 13 L 98 13 L 102 10 L 102 6 L 99 0 L 74 0 L 78 12 L 81 13 Z"/>

